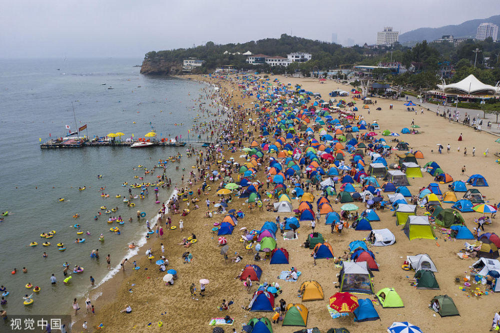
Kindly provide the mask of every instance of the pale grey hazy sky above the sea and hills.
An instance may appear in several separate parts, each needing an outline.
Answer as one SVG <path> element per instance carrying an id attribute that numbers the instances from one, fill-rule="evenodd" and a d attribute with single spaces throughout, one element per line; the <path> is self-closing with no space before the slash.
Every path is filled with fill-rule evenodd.
<path id="1" fill-rule="evenodd" d="M 470 0 L 0 0 L 0 57 L 141 58 L 281 33 L 362 45 L 384 26 L 403 33 L 499 12 Z"/>

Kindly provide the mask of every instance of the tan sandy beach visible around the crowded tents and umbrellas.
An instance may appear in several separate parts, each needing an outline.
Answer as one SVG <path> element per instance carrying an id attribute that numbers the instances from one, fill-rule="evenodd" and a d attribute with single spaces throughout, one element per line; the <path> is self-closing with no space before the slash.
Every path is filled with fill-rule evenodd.
<path id="1" fill-rule="evenodd" d="M 192 78 L 205 80 L 213 84 L 221 86 L 227 96 L 233 90 L 233 96 L 230 104 L 242 104 L 243 108 L 250 107 L 251 98 L 241 98 L 241 92 L 237 88 L 237 80 L 232 81 L 209 78 L 201 76 L 192 76 Z M 348 85 L 342 85 L 334 81 L 324 81 L 320 84 L 317 79 L 311 78 L 294 78 L 283 76 L 270 76 L 269 81 L 272 82 L 277 78 L 282 83 L 290 82 L 300 84 L 306 91 L 319 92 L 323 99 L 328 100 L 328 92 L 331 90 L 342 88 L 350 91 L 352 88 Z M 222 93 L 222 92 L 221 92 Z M 338 97 L 337 97 L 338 98 Z M 345 97 L 347 101 L 352 100 L 351 96 Z M 412 119 L 414 123 L 419 125 L 419 134 L 401 134 L 398 136 L 400 140 L 405 140 L 409 146 L 415 150 L 421 150 L 424 154 L 424 159 L 419 159 L 418 163 L 423 166 L 428 161 L 436 161 L 444 172 L 449 173 L 454 180 L 466 181 L 471 174 L 482 174 L 488 181 L 489 187 L 478 187 L 485 201 L 490 204 L 496 204 L 498 197 L 495 196 L 495 189 L 500 185 L 500 181 L 496 178 L 498 164 L 495 163 L 496 156 L 493 153 L 496 151 L 494 142 L 497 138 L 494 135 L 485 132 L 476 132 L 470 127 L 465 127 L 461 124 L 451 123 L 440 116 L 436 116 L 435 112 L 424 111 L 420 114 L 420 107 L 415 106 L 418 110 L 417 114 L 407 112 L 404 101 L 391 99 L 383 99 L 374 97 L 376 105 L 370 106 L 370 114 L 366 110 L 361 109 L 361 101 L 357 101 L 356 106 L 360 109 L 356 114 L 363 114 L 367 122 L 376 120 L 380 124 L 380 129 L 375 132 L 378 137 L 381 137 L 381 132 L 384 129 L 400 132 L 403 127 L 410 127 Z M 410 98 L 411 99 L 411 98 Z M 413 98 L 416 99 L 416 98 Z M 417 103 L 417 100 L 413 100 Z M 244 104 L 243 104 L 244 103 Z M 393 104 L 393 109 L 389 110 L 389 104 Z M 381 110 L 375 110 L 380 107 Z M 333 115 L 333 113 L 332 113 Z M 252 117 L 250 115 L 249 117 Z M 335 116 L 335 115 L 333 115 Z M 246 131 L 246 128 L 245 128 Z M 463 140 L 457 141 L 459 135 L 462 135 Z M 315 133 L 318 138 L 318 133 Z M 392 137 L 385 136 L 387 141 Z M 442 154 L 437 152 L 436 144 L 442 144 L 444 147 L 449 143 L 450 152 L 443 149 Z M 391 143 L 389 143 L 391 144 Z M 243 142 L 244 146 L 248 146 L 248 142 Z M 393 145 L 393 144 L 391 144 Z M 459 151 L 457 151 L 459 147 Z M 467 148 L 467 155 L 464 156 L 464 148 Z M 472 156 L 472 149 L 475 147 L 475 156 Z M 483 152 L 489 149 L 487 157 Z M 397 162 L 395 153 L 387 158 L 387 162 Z M 244 153 L 240 150 L 231 153 L 224 150 L 225 159 L 233 157 L 239 163 L 244 163 L 245 159 L 240 157 Z M 367 159 L 365 158 L 365 161 Z M 256 178 L 265 183 L 265 166 L 268 163 L 263 163 L 263 166 L 256 174 Z M 461 168 L 465 165 L 466 171 L 461 175 Z M 194 170 L 194 169 L 193 169 Z M 186 169 L 186 174 L 190 170 Z M 235 176 L 235 175 L 233 175 Z M 173 179 L 172 179 L 173 180 Z M 422 178 L 409 178 L 410 186 L 408 187 L 412 194 L 416 194 L 422 186 L 427 186 L 429 182 L 434 182 L 433 177 L 428 173 L 424 173 Z M 175 182 L 175 181 L 173 181 Z M 215 194 L 218 183 L 211 184 L 212 190 L 207 196 L 210 201 L 218 201 L 219 197 Z M 380 181 L 380 183 L 383 181 Z M 193 189 L 197 190 L 199 183 Z M 470 188 L 470 187 L 469 187 Z M 265 185 L 264 185 L 265 189 Z M 447 189 L 446 184 L 441 185 L 441 190 L 444 192 Z M 321 195 L 321 191 L 313 191 L 315 198 Z M 460 193 L 457 193 L 457 197 Z M 460 194 L 461 196 L 461 194 Z M 244 204 L 244 199 L 237 197 L 229 204 L 229 208 L 236 210 L 241 209 L 245 213 L 245 217 L 238 220 L 238 225 L 234 228 L 231 235 L 226 235 L 229 245 L 229 256 L 234 256 L 237 251 L 242 257 L 242 261 L 238 263 L 225 262 L 220 255 L 220 246 L 217 243 L 216 232 L 212 232 L 214 222 L 220 222 L 225 214 L 214 214 L 212 218 L 206 218 L 207 211 L 204 200 L 206 197 L 202 194 L 199 201 L 199 209 L 191 209 L 187 216 L 183 216 L 184 229 L 180 231 L 168 229 L 163 238 L 151 237 L 146 245 L 139 250 L 139 254 L 129 259 L 137 260 L 137 265 L 141 267 L 139 270 L 132 270 L 132 265 L 129 264 L 125 268 L 124 273 L 118 273 L 110 281 L 107 281 L 99 288 L 92 291 L 92 295 L 102 293 L 94 302 L 96 315 L 81 318 L 78 316 L 75 331 L 80 329 L 81 321 L 89 321 L 91 331 L 97 329 L 97 325 L 103 327 L 99 329 L 103 332 L 117 331 L 187 331 L 187 332 L 211 332 L 213 326 L 208 323 L 211 318 L 224 317 L 229 315 L 234 318 L 232 325 L 221 326 L 224 331 L 230 332 L 232 328 L 236 331 L 241 330 L 241 324 L 248 322 L 253 317 L 268 317 L 272 316 L 272 312 L 249 312 L 244 310 L 242 306 L 247 306 L 252 294 L 248 293 L 242 284 L 242 281 L 236 278 L 238 273 L 245 264 L 255 263 L 253 254 L 247 254 L 242 243 L 239 242 L 240 227 L 246 227 L 248 230 L 260 229 L 265 221 L 274 221 L 279 215 L 281 219 L 286 216 L 291 216 L 291 213 L 275 213 L 258 211 L 258 209 L 249 210 L 248 205 Z M 271 199 L 272 202 L 272 199 Z M 266 202 L 264 202 L 265 204 Z M 331 200 L 333 209 L 340 211 L 341 204 L 335 204 Z M 362 203 L 357 203 L 361 205 Z M 298 200 L 292 199 L 293 209 L 297 208 Z M 443 203 L 443 207 L 448 208 L 450 203 Z M 314 210 L 316 206 L 314 204 Z M 361 211 L 361 210 L 360 210 Z M 419 215 L 423 214 L 424 209 L 419 208 Z M 379 264 L 380 270 L 374 272 L 374 290 L 375 292 L 384 287 L 393 287 L 400 295 L 404 307 L 401 308 L 382 308 L 380 305 L 375 305 L 380 320 L 366 321 L 355 323 L 352 320 L 352 315 L 332 319 L 327 311 L 328 297 L 338 291 L 335 288 L 333 281 L 336 281 L 336 274 L 340 268 L 335 268 L 333 260 L 319 259 L 317 265 L 313 266 L 311 250 L 301 247 L 300 245 L 305 240 L 306 234 L 310 231 L 308 223 L 301 223 L 298 229 L 298 239 L 284 241 L 280 235 L 276 235 L 277 246 L 285 247 L 289 253 L 289 264 L 269 265 L 268 261 L 260 261 L 257 264 L 262 268 L 260 282 L 279 282 L 282 293 L 277 297 L 278 300 L 283 298 L 286 303 L 303 303 L 308 309 L 307 328 L 314 326 L 318 327 L 321 332 L 326 332 L 330 327 L 346 327 L 351 332 L 383 332 L 393 321 L 409 321 L 418 325 L 424 332 L 433 331 L 487 331 L 490 328 L 493 313 L 498 311 L 497 294 L 489 293 L 481 296 L 467 296 L 466 292 L 458 289 L 463 283 L 455 283 L 455 277 L 463 278 L 469 274 L 469 266 L 475 259 L 460 259 L 456 253 L 463 247 L 463 240 L 448 240 L 439 232 L 439 228 L 434 230 L 437 237 L 437 242 L 431 239 L 415 239 L 410 241 L 403 231 L 401 226 L 395 223 L 395 217 L 392 212 L 385 209 L 383 212 L 377 211 L 380 221 L 372 222 L 373 228 L 388 228 L 395 235 L 396 242 L 393 245 L 385 247 L 370 247 L 369 249 L 375 253 L 376 261 Z M 480 215 L 475 212 L 462 213 L 465 220 L 465 225 L 472 229 L 475 224 L 474 218 Z M 171 215 L 172 225 L 178 226 L 180 216 L 178 214 Z M 164 221 L 163 221 L 164 225 Z M 330 233 L 330 226 L 324 224 L 324 218 L 316 224 L 316 231 L 321 232 L 324 238 L 331 244 L 333 254 L 335 256 L 343 253 L 348 248 L 348 243 L 352 240 L 362 240 L 368 235 L 368 231 L 355 231 L 353 229 L 345 229 L 341 236 Z M 486 232 L 498 232 L 498 224 L 493 219 L 492 225 L 485 226 Z M 195 233 L 197 242 L 192 244 L 188 249 L 182 245 L 177 245 L 182 240 L 183 236 L 189 236 Z M 173 285 L 165 285 L 162 281 L 164 272 L 158 271 L 158 266 L 154 264 L 155 259 L 149 262 L 144 255 L 145 250 L 151 247 L 155 257 L 161 255 L 160 243 L 165 246 L 165 256 L 169 260 L 169 268 L 177 271 L 178 279 Z M 193 260 L 189 263 L 184 263 L 182 253 L 186 250 L 191 251 Z M 401 264 L 407 255 L 415 255 L 418 253 L 427 253 L 437 266 L 438 272 L 435 274 L 440 290 L 418 290 L 410 285 L 409 278 L 413 277 L 412 271 L 401 269 Z M 291 266 L 297 267 L 302 272 L 298 281 L 278 280 L 277 276 L 281 270 L 289 269 Z M 147 270 L 145 269 L 147 268 Z M 408 278 L 409 277 L 409 278 Z M 199 279 L 206 278 L 210 282 L 206 286 L 205 297 L 196 296 L 197 299 L 191 299 L 189 294 L 189 286 L 195 283 L 199 291 Z M 324 299 L 302 302 L 297 297 L 297 290 L 300 284 L 306 280 L 315 280 L 320 283 Z M 253 291 L 255 290 L 255 284 Z M 484 290 L 484 286 L 480 286 Z M 428 304 L 433 296 L 439 294 L 447 294 L 453 298 L 453 301 L 460 312 L 460 316 L 439 317 L 434 311 L 428 309 Z M 373 296 L 358 295 L 358 298 L 372 298 Z M 222 299 L 233 300 L 234 304 L 228 310 L 220 311 L 217 306 L 221 304 Z M 132 308 L 129 314 L 120 313 L 126 304 Z M 472 319 L 473 318 L 473 319 Z M 162 323 L 159 327 L 158 322 Z M 281 326 L 281 324 L 273 324 L 274 332 L 291 332 L 299 330 L 302 327 Z"/>

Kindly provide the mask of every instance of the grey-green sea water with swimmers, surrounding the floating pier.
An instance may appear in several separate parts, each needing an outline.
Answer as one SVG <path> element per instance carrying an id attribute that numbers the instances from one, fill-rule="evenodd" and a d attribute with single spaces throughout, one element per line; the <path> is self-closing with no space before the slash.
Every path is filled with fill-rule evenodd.
<path id="1" fill-rule="evenodd" d="M 62 314 L 71 310 L 72 299 L 85 295 L 90 286 L 90 275 L 95 285 L 112 277 L 124 256 L 132 252 L 130 242 L 143 243 L 145 219 L 154 219 L 160 208 L 154 203 L 154 191 L 149 187 L 148 197 L 135 199 L 136 206 L 127 207 L 123 195 L 128 197 L 128 183 L 140 182 L 144 170 L 152 169 L 158 159 L 167 159 L 178 152 L 180 163 L 168 162 L 166 176 L 172 187 L 160 190 L 160 200 L 170 197 L 173 186 L 184 174 L 188 178 L 194 157 L 186 157 L 186 147 L 130 147 L 105 146 L 74 149 L 40 149 L 39 139 L 62 136 L 66 125 L 74 131 L 87 124 L 80 135 L 103 136 L 110 132 L 123 132 L 126 137 L 144 137 L 155 130 L 161 137 L 187 138 L 192 124 L 211 120 L 201 117 L 199 103 L 193 99 L 205 94 L 204 83 L 177 78 L 149 77 L 139 74 L 141 59 L 41 59 L 0 60 L 0 210 L 8 210 L 0 222 L 0 284 L 7 287 L 8 303 L 3 308 L 10 314 Z M 108 89 L 112 87 L 112 89 Z M 71 105 L 72 103 L 72 105 Z M 207 103 L 205 108 L 209 108 Z M 73 116 L 74 107 L 74 116 Z M 206 113 L 205 113 L 206 114 Z M 76 118 L 76 124 L 75 119 Z M 183 125 L 175 125 L 182 123 Z M 191 133 L 192 134 L 192 133 Z M 192 136 L 191 136 L 192 138 Z M 203 138 L 203 137 L 202 137 Z M 176 169 L 176 166 L 179 166 Z M 133 170 L 132 168 L 137 170 Z M 182 168 L 185 167 L 185 171 Z M 144 181 L 154 182 L 161 168 Z M 98 175 L 102 175 L 98 178 Z M 86 186 L 79 191 L 78 187 Z M 180 183 L 179 183 L 180 186 Z M 99 188 L 108 198 L 100 196 Z M 135 189 L 133 194 L 138 194 Z M 116 195 L 121 197 L 116 198 Z M 59 201 L 59 197 L 64 201 Z M 100 206 L 118 211 L 104 214 Z M 146 212 L 144 220 L 137 222 L 136 211 Z M 98 211 L 102 215 L 94 220 Z M 78 218 L 72 216 L 78 213 Z M 121 215 L 125 224 L 107 223 L 109 216 Z M 132 217 L 133 222 L 128 219 Z M 77 235 L 73 227 L 81 225 L 83 234 Z M 119 226 L 121 234 L 110 232 Z M 55 230 L 50 239 L 40 233 Z M 89 231 L 91 235 L 86 235 Z M 98 240 L 103 233 L 104 242 Z M 154 236 L 154 235 L 153 235 Z M 85 238 L 84 243 L 75 243 Z M 50 246 L 42 246 L 47 240 Z M 37 246 L 29 243 L 36 241 Z M 61 252 L 56 244 L 67 248 Z M 90 258 L 92 249 L 99 249 L 99 260 Z M 47 257 L 43 258 L 43 252 Z M 110 271 L 105 256 L 111 254 Z M 71 274 L 64 285 L 62 264 L 71 268 L 78 264 L 83 273 Z M 21 270 L 27 268 L 27 273 Z M 10 272 L 17 268 L 17 273 Z M 50 284 L 54 274 L 57 283 Z M 22 304 L 22 296 L 31 294 L 26 283 L 41 287 L 33 296 L 34 303 Z"/>

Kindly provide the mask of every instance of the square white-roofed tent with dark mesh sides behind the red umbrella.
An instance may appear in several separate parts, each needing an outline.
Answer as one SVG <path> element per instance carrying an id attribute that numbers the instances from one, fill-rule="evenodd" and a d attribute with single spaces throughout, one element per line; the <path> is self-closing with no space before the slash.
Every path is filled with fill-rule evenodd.
<path id="1" fill-rule="evenodd" d="M 373 294 L 371 276 L 373 274 L 368 268 L 366 261 L 343 261 L 339 275 L 339 291 Z"/>

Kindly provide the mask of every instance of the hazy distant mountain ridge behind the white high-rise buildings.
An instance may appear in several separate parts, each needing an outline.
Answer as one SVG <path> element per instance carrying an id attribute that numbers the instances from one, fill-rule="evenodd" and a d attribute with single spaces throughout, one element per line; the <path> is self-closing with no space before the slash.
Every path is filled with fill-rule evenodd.
<path id="1" fill-rule="evenodd" d="M 500 15 L 494 15 L 488 18 L 477 18 L 465 21 L 461 24 L 445 25 L 437 28 L 418 28 L 399 35 L 401 44 L 414 44 L 422 40 L 431 41 L 440 38 L 444 34 L 452 34 L 454 37 L 474 38 L 477 26 L 480 23 L 491 22 L 500 25 Z"/>

